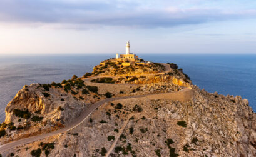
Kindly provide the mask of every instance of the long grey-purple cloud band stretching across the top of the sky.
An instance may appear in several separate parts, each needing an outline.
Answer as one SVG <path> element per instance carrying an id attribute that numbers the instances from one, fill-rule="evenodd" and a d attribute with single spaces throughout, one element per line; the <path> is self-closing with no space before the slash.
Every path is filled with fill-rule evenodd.
<path id="1" fill-rule="evenodd" d="M 144 2 L 144 3 L 143 3 Z M 202 3 L 202 1 L 193 1 Z M 164 5 L 166 4 L 166 5 Z M 221 9 L 193 5 L 181 7 L 175 3 L 153 1 L 46 1 L 2 0 L 0 21 L 39 26 L 60 26 L 83 29 L 97 26 L 125 26 L 138 28 L 172 27 L 200 24 L 237 18 L 252 18 L 254 9 Z"/>

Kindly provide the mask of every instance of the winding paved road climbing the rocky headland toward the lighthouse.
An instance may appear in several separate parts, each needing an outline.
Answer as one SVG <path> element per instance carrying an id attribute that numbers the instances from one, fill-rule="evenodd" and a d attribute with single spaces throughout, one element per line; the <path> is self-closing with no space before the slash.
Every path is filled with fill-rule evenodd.
<path id="1" fill-rule="evenodd" d="M 171 70 L 171 68 L 168 64 L 163 64 L 163 65 L 165 66 L 165 71 L 161 72 L 161 73 L 157 73 L 157 74 L 166 73 L 166 72 Z M 87 79 L 90 80 L 91 78 L 87 78 Z M 183 91 L 186 91 L 186 90 L 187 89 L 182 89 L 182 91 L 177 91 L 177 92 L 183 92 Z M 160 93 L 160 94 L 163 94 L 163 93 Z M 143 97 L 150 96 L 150 95 L 156 95 L 156 94 L 123 96 L 123 97 L 109 98 L 109 99 L 103 99 L 101 101 L 97 101 L 96 103 L 91 104 L 90 108 L 83 111 L 83 113 L 78 118 L 74 119 L 66 127 L 58 129 L 58 130 L 53 131 L 51 133 L 31 136 L 29 138 L 19 139 L 17 141 L 13 141 L 13 142 L 10 142 L 10 143 L 7 143 L 7 144 L 3 144 L 3 145 L 0 146 L 0 154 L 8 151 L 9 149 L 13 149 L 16 146 L 21 146 L 23 144 L 33 143 L 34 141 L 38 141 L 40 139 L 48 138 L 50 136 L 58 135 L 58 134 L 61 134 L 61 133 L 66 133 L 67 131 L 70 131 L 71 129 L 76 128 L 76 126 L 83 123 L 83 121 L 85 121 L 91 115 L 91 113 L 93 113 L 93 111 L 95 111 L 96 108 L 98 108 L 99 106 L 101 106 L 104 103 L 108 103 L 108 102 L 111 102 L 111 101 L 114 101 L 114 100 L 120 100 L 120 99 L 143 98 Z"/>

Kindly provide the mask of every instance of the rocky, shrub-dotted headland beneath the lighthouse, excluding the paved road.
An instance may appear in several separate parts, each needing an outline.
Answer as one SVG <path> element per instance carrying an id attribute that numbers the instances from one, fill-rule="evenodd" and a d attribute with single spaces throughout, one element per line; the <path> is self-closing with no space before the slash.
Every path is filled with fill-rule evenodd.
<path id="1" fill-rule="evenodd" d="M 6 107 L 1 144 L 68 126 L 101 99 L 158 97 L 105 103 L 71 131 L 4 154 L 105 156 L 110 151 L 110 156 L 256 156 L 256 115 L 246 99 L 201 90 L 176 64 L 102 63 L 81 78 L 24 86 Z M 189 99 L 178 101 L 175 96 L 186 89 L 190 94 L 184 98 Z"/>

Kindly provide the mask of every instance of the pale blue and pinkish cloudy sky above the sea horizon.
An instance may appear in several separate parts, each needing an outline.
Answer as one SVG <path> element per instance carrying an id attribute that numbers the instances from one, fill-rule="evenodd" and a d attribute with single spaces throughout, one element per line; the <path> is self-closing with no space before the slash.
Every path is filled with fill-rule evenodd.
<path id="1" fill-rule="evenodd" d="M 0 56 L 256 54 L 255 0 L 1 0 Z"/>

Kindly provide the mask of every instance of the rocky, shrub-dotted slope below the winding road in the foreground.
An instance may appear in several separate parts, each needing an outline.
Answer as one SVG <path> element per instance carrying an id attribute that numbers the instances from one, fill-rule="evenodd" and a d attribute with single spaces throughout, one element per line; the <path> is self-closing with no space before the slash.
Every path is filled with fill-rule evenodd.
<path id="1" fill-rule="evenodd" d="M 194 98 L 187 103 L 133 98 L 104 104 L 76 129 L 42 142 L 55 143 L 49 156 L 101 156 L 113 144 L 109 136 L 120 138 L 111 156 L 170 156 L 171 150 L 179 156 L 255 156 L 256 115 L 248 101 L 197 86 L 192 90 Z M 29 151 L 21 146 L 18 153 L 26 156 L 36 145 Z"/>

